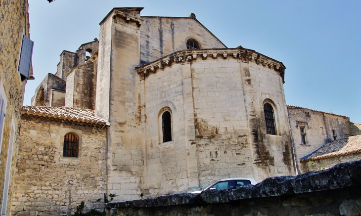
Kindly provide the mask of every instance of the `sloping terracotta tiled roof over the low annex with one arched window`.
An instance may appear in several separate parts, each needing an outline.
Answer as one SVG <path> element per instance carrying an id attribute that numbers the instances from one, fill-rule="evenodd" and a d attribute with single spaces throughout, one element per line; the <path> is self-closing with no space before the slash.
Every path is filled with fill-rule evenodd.
<path id="1" fill-rule="evenodd" d="M 63 119 L 103 126 L 110 125 L 110 123 L 106 120 L 96 117 L 94 110 L 73 107 L 23 106 L 23 114 L 52 117 L 54 119 Z"/>

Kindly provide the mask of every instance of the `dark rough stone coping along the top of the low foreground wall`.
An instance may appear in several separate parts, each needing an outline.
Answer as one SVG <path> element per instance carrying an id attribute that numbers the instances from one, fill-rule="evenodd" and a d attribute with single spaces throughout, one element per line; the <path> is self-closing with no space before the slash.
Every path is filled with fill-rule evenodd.
<path id="1" fill-rule="evenodd" d="M 146 208 L 192 204 L 228 203 L 243 199 L 283 196 L 361 186 L 361 160 L 338 164 L 328 170 L 297 176 L 266 178 L 256 185 L 206 190 L 200 194 L 172 194 L 155 198 L 107 203 L 106 208 Z"/>

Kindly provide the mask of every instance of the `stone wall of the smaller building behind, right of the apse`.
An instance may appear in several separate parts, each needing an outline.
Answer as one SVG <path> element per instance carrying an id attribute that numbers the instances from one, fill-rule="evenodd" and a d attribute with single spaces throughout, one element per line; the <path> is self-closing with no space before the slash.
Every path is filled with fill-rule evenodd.
<path id="1" fill-rule="evenodd" d="M 348 137 L 346 128 L 346 124 L 350 122 L 348 117 L 293 106 L 288 106 L 287 111 L 298 172 L 303 172 L 300 169 L 300 158 L 312 153 L 327 141 L 333 140 L 332 130 L 336 131 L 336 139 Z M 306 132 L 306 144 L 301 143 L 300 127 Z"/>

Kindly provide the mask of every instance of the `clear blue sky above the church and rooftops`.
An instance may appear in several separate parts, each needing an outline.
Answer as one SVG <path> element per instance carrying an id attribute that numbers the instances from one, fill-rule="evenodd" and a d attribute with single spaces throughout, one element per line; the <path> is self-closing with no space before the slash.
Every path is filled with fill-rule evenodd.
<path id="1" fill-rule="evenodd" d="M 283 62 L 289 105 L 349 116 L 361 123 L 360 0 L 29 0 L 35 80 L 24 105 L 63 50 L 99 38 L 113 7 L 144 7 L 143 16 L 196 18 L 228 47 L 242 45 Z"/>

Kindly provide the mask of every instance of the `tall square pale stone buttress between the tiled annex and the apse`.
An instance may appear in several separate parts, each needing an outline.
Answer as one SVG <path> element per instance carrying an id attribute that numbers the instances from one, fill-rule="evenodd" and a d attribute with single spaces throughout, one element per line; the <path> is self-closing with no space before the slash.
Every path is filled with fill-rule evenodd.
<path id="1" fill-rule="evenodd" d="M 127 16 L 124 17 L 124 13 Z M 129 22 L 125 18 L 131 17 Z M 96 115 L 109 120 L 108 192 L 114 200 L 140 196 L 142 135 L 139 79 L 140 17 L 135 8 L 113 11 L 100 25 Z"/>

